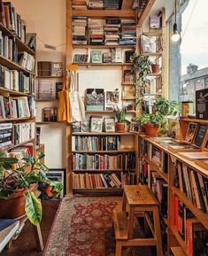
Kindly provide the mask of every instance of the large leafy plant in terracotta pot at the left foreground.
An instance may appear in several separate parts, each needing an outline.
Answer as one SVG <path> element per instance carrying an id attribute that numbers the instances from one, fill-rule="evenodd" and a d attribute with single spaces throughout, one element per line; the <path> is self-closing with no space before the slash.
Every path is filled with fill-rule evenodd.
<path id="1" fill-rule="evenodd" d="M 58 196 L 63 189 L 61 182 L 47 178 L 48 167 L 40 163 L 43 157 L 42 153 L 36 159 L 29 156 L 21 160 L 19 167 L 18 159 L 7 158 L 0 151 L 0 218 L 17 218 L 26 213 L 34 225 L 40 224 L 42 204 L 35 196 L 38 182 L 48 184 L 46 192 L 50 196 Z"/>

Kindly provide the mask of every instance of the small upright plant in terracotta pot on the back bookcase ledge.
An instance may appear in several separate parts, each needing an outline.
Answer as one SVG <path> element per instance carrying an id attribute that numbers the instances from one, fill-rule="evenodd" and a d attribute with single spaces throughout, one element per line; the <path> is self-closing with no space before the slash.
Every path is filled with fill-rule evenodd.
<path id="1" fill-rule="evenodd" d="M 126 126 L 129 124 L 129 121 L 126 120 L 126 115 L 127 115 L 127 107 L 124 106 L 121 110 L 119 110 L 118 105 L 114 109 L 116 112 L 116 126 L 115 130 L 117 133 L 123 133 L 126 130 Z"/>

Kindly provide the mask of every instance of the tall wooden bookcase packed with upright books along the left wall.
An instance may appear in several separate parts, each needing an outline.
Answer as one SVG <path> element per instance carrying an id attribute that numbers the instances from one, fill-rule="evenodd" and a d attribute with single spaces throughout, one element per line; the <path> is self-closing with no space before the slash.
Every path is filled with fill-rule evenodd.
<path id="1" fill-rule="evenodd" d="M 13 15 L 16 19 L 14 9 Z M 8 23 L 0 23 L 0 150 L 30 143 L 35 156 L 35 34 L 27 44 L 26 25 L 18 17 L 11 30 Z"/>

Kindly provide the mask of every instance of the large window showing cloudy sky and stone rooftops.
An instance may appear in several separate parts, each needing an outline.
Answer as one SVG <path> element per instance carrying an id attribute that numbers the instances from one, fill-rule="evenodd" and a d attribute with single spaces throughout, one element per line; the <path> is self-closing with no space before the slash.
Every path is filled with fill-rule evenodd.
<path id="1" fill-rule="evenodd" d="M 178 43 L 170 42 L 169 98 L 195 100 L 197 89 L 208 88 L 208 1 L 183 0 L 177 10 L 181 34 Z M 174 17 L 170 20 L 170 35 Z"/>

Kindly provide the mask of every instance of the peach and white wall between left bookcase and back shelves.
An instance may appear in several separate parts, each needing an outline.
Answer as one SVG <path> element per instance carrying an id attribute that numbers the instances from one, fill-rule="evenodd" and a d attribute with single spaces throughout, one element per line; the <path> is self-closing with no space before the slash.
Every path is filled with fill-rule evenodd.
<path id="1" fill-rule="evenodd" d="M 65 45 L 57 50 L 47 50 L 44 43 L 59 45 L 65 40 L 65 0 L 12 0 L 22 19 L 27 21 L 27 32 L 37 34 L 37 60 L 65 62 Z M 50 106 L 38 103 L 37 112 Z M 45 144 L 46 165 L 50 168 L 65 167 L 65 125 L 42 125 L 41 143 Z"/>

